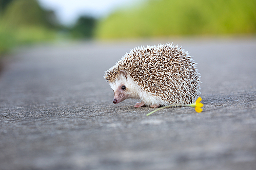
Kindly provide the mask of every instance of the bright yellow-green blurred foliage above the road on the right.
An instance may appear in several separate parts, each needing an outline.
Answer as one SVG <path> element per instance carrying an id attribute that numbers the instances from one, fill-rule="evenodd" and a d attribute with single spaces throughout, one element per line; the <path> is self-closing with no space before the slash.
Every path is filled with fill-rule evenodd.
<path id="1" fill-rule="evenodd" d="M 256 0 L 147 0 L 98 22 L 98 38 L 255 34 Z"/>

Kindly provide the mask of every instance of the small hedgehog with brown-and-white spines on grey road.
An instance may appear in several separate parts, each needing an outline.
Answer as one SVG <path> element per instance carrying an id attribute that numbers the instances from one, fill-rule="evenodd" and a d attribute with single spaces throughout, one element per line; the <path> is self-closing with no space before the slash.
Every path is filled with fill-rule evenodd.
<path id="1" fill-rule="evenodd" d="M 134 107 L 190 104 L 200 93 L 200 73 L 189 55 L 173 43 L 141 46 L 126 53 L 104 78 L 114 91 L 113 103 L 138 99 Z"/>

